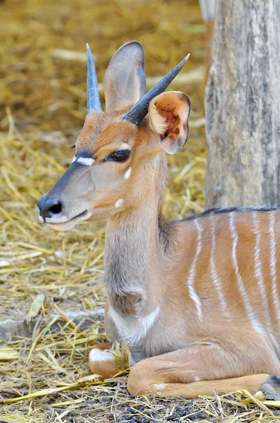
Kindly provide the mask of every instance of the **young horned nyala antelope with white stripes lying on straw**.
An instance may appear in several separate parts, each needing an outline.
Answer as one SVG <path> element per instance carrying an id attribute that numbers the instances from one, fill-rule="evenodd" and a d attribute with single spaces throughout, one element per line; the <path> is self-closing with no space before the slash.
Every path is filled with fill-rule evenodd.
<path id="1" fill-rule="evenodd" d="M 38 201 L 39 219 L 57 231 L 107 219 L 105 324 L 128 345 L 129 393 L 193 398 L 280 386 L 280 211 L 165 221 L 165 152 L 184 147 L 190 101 L 164 91 L 189 56 L 145 94 L 143 47 L 123 45 L 106 70 L 103 112 L 87 54 L 87 117 L 72 164 Z M 103 378 L 118 372 L 109 349 L 89 356 Z"/>

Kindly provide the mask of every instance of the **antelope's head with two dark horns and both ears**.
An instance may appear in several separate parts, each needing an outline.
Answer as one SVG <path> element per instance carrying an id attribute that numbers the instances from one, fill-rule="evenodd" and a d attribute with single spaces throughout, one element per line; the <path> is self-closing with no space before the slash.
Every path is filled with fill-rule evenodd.
<path id="1" fill-rule="evenodd" d="M 176 153 L 188 137 L 189 97 L 164 91 L 189 55 L 145 94 L 144 49 L 136 41 L 123 45 L 106 70 L 103 112 L 88 46 L 87 54 L 88 113 L 75 157 L 37 202 L 39 219 L 57 231 L 139 207 L 151 192 L 159 156 Z"/>

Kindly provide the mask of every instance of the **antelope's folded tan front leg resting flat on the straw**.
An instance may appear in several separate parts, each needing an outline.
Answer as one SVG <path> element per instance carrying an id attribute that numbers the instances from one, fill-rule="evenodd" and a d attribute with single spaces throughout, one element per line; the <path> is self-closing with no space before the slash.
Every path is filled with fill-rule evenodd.
<path id="1" fill-rule="evenodd" d="M 258 362 L 250 353 L 239 359 L 219 344 L 202 344 L 142 360 L 132 367 L 127 389 L 133 395 L 159 391 L 167 396 L 194 398 L 214 391 L 228 393 L 238 388 L 250 393 L 262 384 L 280 387 L 279 362 L 273 351 L 267 351 L 266 362 Z"/>

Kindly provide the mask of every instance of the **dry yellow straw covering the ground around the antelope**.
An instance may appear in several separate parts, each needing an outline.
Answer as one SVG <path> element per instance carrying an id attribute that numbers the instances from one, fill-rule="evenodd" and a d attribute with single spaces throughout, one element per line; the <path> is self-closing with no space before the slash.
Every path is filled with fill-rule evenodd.
<path id="1" fill-rule="evenodd" d="M 85 42 L 101 81 L 110 56 L 129 39 L 144 44 L 149 85 L 191 52 L 173 85 L 192 100 L 190 138 L 170 157 L 163 212 L 180 219 L 202 211 L 204 30 L 196 0 L 0 2 L 0 324 L 30 325 L 30 334 L 1 343 L 1 422 L 276 421 L 261 394 L 243 393 L 245 403 L 234 394 L 132 398 L 125 373 L 98 381 L 87 356 L 106 340 L 105 225 L 61 235 L 37 220 L 36 200 L 70 164 L 68 147 L 84 120 Z"/>

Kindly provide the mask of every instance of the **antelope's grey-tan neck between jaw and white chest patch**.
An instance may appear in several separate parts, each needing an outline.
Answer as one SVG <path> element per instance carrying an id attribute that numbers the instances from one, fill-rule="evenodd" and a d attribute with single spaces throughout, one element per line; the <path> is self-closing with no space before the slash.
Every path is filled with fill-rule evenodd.
<path id="1" fill-rule="evenodd" d="M 158 215 L 155 197 L 141 207 L 120 213 L 108 221 L 105 251 L 105 283 L 109 303 L 121 314 L 152 312 L 163 290 L 163 264 L 167 229 Z M 143 310 L 143 307 L 145 310 Z"/>

